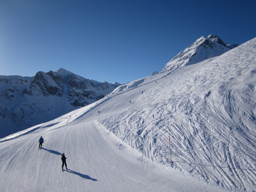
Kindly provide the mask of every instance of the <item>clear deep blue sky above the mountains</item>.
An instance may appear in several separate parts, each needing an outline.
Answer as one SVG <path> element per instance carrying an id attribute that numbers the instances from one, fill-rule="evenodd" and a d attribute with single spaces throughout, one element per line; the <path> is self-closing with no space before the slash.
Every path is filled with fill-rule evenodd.
<path id="1" fill-rule="evenodd" d="M 1 0 L 0 75 L 64 68 L 126 83 L 161 71 L 201 36 L 256 37 L 256 0 Z"/>

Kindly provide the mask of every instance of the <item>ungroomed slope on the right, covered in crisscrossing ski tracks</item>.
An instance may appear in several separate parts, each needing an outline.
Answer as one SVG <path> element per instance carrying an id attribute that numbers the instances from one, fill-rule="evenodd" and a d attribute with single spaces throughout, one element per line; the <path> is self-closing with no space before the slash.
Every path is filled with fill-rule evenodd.
<path id="1" fill-rule="evenodd" d="M 228 189 L 256 185 L 256 39 L 172 71 L 100 122 L 152 161 Z M 132 98 L 131 98 L 132 100 Z M 172 141 L 168 163 L 167 138 Z"/>

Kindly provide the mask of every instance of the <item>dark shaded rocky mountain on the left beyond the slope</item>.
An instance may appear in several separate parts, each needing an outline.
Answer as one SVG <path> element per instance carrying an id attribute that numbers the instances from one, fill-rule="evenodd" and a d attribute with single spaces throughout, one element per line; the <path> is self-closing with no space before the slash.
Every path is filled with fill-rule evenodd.
<path id="1" fill-rule="evenodd" d="M 0 76 L 0 137 L 91 104 L 116 87 L 62 68 L 34 77 Z"/>

